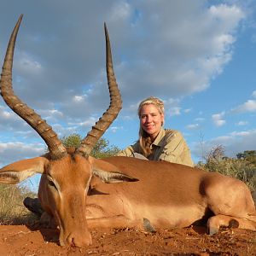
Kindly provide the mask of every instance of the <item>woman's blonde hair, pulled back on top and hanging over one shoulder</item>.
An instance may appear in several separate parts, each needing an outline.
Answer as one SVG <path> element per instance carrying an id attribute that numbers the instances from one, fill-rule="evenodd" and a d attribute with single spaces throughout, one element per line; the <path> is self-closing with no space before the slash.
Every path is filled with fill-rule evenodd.
<path id="1" fill-rule="evenodd" d="M 137 113 L 139 118 L 141 118 L 141 110 L 144 105 L 149 105 L 153 104 L 155 108 L 158 109 L 159 113 L 164 114 L 165 113 L 165 106 L 164 102 L 162 102 L 159 98 L 150 96 L 147 99 L 143 100 L 138 109 Z M 163 125 L 163 123 L 162 123 Z M 148 133 L 143 130 L 142 126 L 140 125 L 140 130 L 139 130 L 139 143 L 140 143 L 140 149 L 141 149 L 141 154 L 143 154 L 145 157 L 148 157 L 152 153 L 152 149 L 150 148 L 150 145 L 152 144 L 151 137 L 149 137 Z"/>

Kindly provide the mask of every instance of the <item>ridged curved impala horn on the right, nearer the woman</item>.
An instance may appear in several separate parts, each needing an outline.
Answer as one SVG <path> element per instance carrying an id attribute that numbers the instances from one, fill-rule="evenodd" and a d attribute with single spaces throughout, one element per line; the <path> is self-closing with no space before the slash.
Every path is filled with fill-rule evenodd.
<path id="1" fill-rule="evenodd" d="M 104 29 L 106 38 L 106 68 L 108 77 L 108 90 L 110 95 L 110 106 L 108 110 L 103 113 L 102 118 L 100 118 L 96 122 L 96 125 L 92 127 L 91 131 L 88 132 L 87 136 L 83 139 L 80 147 L 77 148 L 76 153 L 83 154 L 84 156 L 90 154 L 98 139 L 102 137 L 102 134 L 105 131 L 107 131 L 108 127 L 113 123 L 113 120 L 116 119 L 119 111 L 122 108 L 121 95 L 113 73 L 111 47 L 108 38 L 108 29 L 105 23 Z"/>

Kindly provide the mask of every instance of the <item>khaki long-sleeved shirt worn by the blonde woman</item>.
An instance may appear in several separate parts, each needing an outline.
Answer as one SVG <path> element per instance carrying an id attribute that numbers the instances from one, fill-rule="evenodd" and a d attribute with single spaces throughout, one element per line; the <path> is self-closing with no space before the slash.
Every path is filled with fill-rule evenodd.
<path id="1" fill-rule="evenodd" d="M 148 160 L 165 160 L 185 166 L 194 166 L 189 147 L 179 131 L 161 128 L 150 147 L 153 152 L 148 156 Z M 132 157 L 133 153 L 140 153 L 139 141 L 119 151 L 117 155 Z"/>

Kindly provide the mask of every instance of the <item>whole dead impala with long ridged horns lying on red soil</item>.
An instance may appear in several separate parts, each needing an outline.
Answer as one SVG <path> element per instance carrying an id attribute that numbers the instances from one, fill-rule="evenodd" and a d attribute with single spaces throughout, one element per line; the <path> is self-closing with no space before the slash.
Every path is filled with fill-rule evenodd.
<path id="1" fill-rule="evenodd" d="M 239 180 L 165 161 L 125 157 L 97 160 L 90 156 L 121 109 L 106 26 L 110 106 L 79 148 L 65 148 L 46 121 L 14 94 L 12 65 L 21 18 L 9 40 L 1 94 L 9 108 L 44 139 L 49 153 L 4 166 L 0 169 L 0 182 L 20 183 L 36 172 L 42 173 L 38 198 L 60 228 L 61 246 L 90 245 L 88 226 L 143 229 L 143 218 L 150 220 L 153 227 L 165 229 L 207 219 L 210 234 L 218 232 L 220 226 L 232 224 L 256 230 L 251 193 Z"/>

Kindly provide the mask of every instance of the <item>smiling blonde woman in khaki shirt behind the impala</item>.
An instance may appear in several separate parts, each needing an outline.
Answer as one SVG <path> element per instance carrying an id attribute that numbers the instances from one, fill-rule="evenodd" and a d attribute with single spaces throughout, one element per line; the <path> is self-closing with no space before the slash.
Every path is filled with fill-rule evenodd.
<path id="1" fill-rule="evenodd" d="M 176 130 L 164 129 L 164 102 L 150 96 L 138 107 L 140 119 L 137 143 L 119 151 L 119 156 L 148 160 L 165 160 L 185 166 L 194 166 L 187 143 Z"/>

